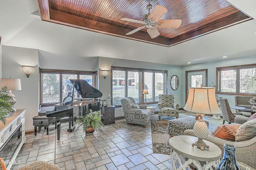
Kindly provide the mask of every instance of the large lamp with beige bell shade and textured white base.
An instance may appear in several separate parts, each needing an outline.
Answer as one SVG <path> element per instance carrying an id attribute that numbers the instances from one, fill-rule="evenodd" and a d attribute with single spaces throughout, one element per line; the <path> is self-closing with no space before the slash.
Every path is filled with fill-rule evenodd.
<path id="1" fill-rule="evenodd" d="M 197 122 L 194 125 L 194 133 L 198 137 L 192 146 L 197 146 L 201 150 L 209 148 L 202 140 L 208 136 L 209 130 L 202 119 L 205 115 L 220 114 L 214 87 L 189 87 L 188 100 L 184 110 L 196 113 Z M 200 117 L 200 119 L 198 119 Z"/>

